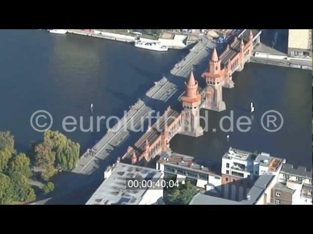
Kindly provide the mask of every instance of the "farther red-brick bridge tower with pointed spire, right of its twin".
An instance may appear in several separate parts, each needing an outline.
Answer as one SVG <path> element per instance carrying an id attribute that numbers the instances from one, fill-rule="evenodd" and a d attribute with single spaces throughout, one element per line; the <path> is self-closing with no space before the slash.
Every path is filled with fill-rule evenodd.
<path id="1" fill-rule="evenodd" d="M 203 74 L 206 81 L 206 102 L 205 108 L 213 111 L 224 111 L 226 109 L 223 101 L 224 79 L 221 73 L 221 60 L 218 58 L 214 48 L 210 60 L 210 71 Z"/>

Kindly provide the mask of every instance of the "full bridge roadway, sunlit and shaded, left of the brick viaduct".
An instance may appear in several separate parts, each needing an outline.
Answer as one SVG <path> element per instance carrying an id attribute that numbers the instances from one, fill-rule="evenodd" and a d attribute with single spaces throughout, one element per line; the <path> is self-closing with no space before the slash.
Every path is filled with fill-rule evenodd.
<path id="1" fill-rule="evenodd" d="M 206 67 L 206 60 L 215 46 L 212 40 L 205 37 L 202 41 L 203 43 L 198 43 L 187 58 L 180 62 L 180 69 L 173 68 L 169 74 L 165 74 L 167 82 L 163 86 L 156 87 L 156 92 L 152 90 L 140 98 L 139 104 L 135 105 L 134 110 L 127 117 L 126 128 L 109 132 L 98 142 L 94 156 L 83 156 L 72 172 L 62 172 L 56 177 L 56 189 L 51 194 L 53 199 L 49 200 L 49 204 L 68 204 L 69 201 L 76 204 L 75 197 L 86 197 L 87 191 L 89 194 L 94 192 L 103 181 L 106 167 L 114 163 L 117 157 L 125 154 L 127 147 L 134 145 L 142 136 L 142 132 L 130 131 L 130 124 L 134 122 L 134 127 L 138 128 L 141 118 L 146 117 L 151 110 L 159 111 L 161 116 L 167 106 L 175 106 L 179 103 L 178 98 L 184 92 L 184 81 L 189 76 L 192 65 L 204 64 Z M 195 73 L 201 74 L 203 69 L 195 67 Z"/>

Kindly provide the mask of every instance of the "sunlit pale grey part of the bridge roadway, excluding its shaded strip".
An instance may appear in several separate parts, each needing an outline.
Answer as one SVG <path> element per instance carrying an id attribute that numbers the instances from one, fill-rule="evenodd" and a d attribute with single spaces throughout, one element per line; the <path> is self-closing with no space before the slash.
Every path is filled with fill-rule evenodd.
<path id="1" fill-rule="evenodd" d="M 132 137 L 131 124 L 133 125 L 132 127 L 137 128 L 141 118 L 146 117 L 149 112 L 153 110 L 151 106 L 154 106 L 154 102 L 162 103 L 158 107 L 158 110 L 156 110 L 162 113 L 168 105 L 177 104 L 178 97 L 184 92 L 184 79 L 180 77 L 186 78 L 189 75 L 192 65 L 208 57 L 211 51 L 208 49 L 213 49 L 213 47 L 213 41 L 203 39 L 203 41 L 198 42 L 190 50 L 189 54 L 175 65 L 169 75 L 162 77 L 156 82 L 155 85 L 146 92 L 145 96 L 139 98 L 120 121 L 107 131 L 104 137 L 81 156 L 73 172 L 90 175 L 97 170 L 99 168 L 97 161 L 108 158 L 115 148 L 120 147 L 123 142 Z M 181 83 L 180 87 L 177 85 L 179 82 Z M 116 157 L 117 156 L 113 157 L 112 161 L 116 160 Z M 105 170 L 105 168 L 103 170 Z"/>

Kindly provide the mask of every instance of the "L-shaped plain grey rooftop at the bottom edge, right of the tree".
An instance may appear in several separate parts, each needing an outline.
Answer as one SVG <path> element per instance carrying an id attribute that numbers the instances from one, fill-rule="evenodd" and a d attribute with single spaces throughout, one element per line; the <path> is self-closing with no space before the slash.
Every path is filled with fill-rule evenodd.
<path id="1" fill-rule="evenodd" d="M 268 187 L 269 183 L 272 181 L 274 176 L 262 175 L 255 181 L 253 187 L 247 194 L 249 199 L 242 201 L 233 201 L 224 199 L 221 197 L 203 195 L 198 193 L 190 201 L 190 205 L 253 205 L 258 199 L 263 195 L 265 189 Z"/>

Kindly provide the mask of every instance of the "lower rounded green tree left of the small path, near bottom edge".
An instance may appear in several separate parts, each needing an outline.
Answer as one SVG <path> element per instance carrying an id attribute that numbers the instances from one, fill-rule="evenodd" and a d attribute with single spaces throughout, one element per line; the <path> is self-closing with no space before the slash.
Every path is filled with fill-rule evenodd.
<path id="1" fill-rule="evenodd" d="M 13 198 L 19 202 L 29 202 L 36 199 L 35 191 L 30 186 L 27 178 L 22 173 L 14 172 L 11 174 L 14 185 Z"/>

